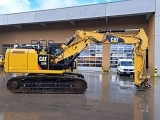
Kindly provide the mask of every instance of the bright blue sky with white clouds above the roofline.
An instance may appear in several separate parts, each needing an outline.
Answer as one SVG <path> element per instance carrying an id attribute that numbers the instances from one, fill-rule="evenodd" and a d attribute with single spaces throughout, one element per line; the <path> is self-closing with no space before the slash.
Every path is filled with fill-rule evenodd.
<path id="1" fill-rule="evenodd" d="M 0 0 L 0 14 L 73 7 L 120 0 Z"/>

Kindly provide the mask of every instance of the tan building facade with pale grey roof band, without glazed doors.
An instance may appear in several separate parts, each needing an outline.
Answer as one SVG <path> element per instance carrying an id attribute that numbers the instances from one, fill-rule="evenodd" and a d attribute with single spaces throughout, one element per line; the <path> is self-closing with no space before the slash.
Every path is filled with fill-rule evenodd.
<path id="1" fill-rule="evenodd" d="M 67 7 L 0 15 L 0 53 L 17 40 L 54 40 L 66 43 L 76 30 L 144 28 L 149 38 L 149 73 L 160 75 L 160 2 L 158 0 L 122 0 L 103 4 Z M 151 59 L 154 58 L 154 59 Z M 102 65 L 110 65 L 110 45 L 103 45 Z"/>

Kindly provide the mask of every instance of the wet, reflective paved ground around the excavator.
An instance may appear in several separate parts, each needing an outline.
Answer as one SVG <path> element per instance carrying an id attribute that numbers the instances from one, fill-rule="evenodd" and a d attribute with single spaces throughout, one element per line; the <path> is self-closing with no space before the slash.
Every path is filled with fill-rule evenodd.
<path id="1" fill-rule="evenodd" d="M 136 92 L 132 77 L 84 72 L 85 94 L 12 94 L 0 71 L 0 120 L 159 120 L 160 78 Z"/>

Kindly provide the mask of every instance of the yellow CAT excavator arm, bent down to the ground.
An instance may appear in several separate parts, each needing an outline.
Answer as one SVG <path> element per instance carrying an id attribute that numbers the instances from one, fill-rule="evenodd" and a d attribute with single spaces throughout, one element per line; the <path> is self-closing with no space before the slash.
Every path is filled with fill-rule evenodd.
<path id="1" fill-rule="evenodd" d="M 75 39 L 76 36 L 78 36 L 78 39 Z M 88 49 L 91 43 L 133 44 L 135 86 L 137 87 L 137 89 L 140 90 L 147 90 L 148 88 L 150 88 L 150 85 L 147 83 L 150 76 L 144 73 L 145 67 L 146 69 L 149 68 L 148 37 L 142 28 L 96 31 L 77 30 L 76 34 L 73 37 L 71 37 L 69 42 L 61 46 L 61 51 L 53 59 L 54 64 L 69 57 L 72 57 L 71 61 L 69 62 L 71 63 L 78 57 L 81 51 Z"/>

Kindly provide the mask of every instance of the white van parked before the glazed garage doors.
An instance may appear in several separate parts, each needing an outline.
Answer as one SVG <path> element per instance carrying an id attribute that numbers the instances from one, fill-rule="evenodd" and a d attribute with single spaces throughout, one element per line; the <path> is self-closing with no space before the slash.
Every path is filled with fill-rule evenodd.
<path id="1" fill-rule="evenodd" d="M 119 59 L 117 65 L 117 74 L 134 75 L 134 64 L 132 59 Z"/>

